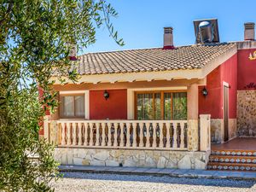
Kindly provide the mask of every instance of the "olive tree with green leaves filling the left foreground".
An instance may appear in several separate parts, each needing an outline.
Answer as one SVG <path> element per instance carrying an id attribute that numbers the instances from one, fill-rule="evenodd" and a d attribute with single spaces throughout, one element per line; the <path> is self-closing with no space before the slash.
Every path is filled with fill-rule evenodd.
<path id="1" fill-rule="evenodd" d="M 117 13 L 105 0 L 0 2 L 0 191 L 49 191 L 58 164 L 53 146 L 38 137 L 45 111 L 58 105 L 49 79 L 76 81 L 69 45 L 95 43 L 96 27 L 107 26 L 123 45 L 110 22 Z"/>

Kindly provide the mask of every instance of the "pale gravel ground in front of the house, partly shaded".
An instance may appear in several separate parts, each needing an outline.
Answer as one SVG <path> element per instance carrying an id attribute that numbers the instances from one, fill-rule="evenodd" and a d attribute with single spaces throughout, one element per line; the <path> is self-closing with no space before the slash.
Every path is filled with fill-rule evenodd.
<path id="1" fill-rule="evenodd" d="M 249 180 L 156 177 L 138 175 L 99 174 L 83 172 L 64 172 L 64 177 L 52 183 L 55 191 L 253 191 L 256 182 Z"/>

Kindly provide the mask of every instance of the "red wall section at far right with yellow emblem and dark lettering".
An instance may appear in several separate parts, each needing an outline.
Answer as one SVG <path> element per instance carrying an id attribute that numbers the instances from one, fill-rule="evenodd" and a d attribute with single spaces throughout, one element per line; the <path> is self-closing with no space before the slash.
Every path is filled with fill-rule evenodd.
<path id="1" fill-rule="evenodd" d="M 238 50 L 238 90 L 256 90 L 256 60 L 249 60 L 249 55 L 256 49 Z M 251 84 L 251 86 L 247 86 Z"/>

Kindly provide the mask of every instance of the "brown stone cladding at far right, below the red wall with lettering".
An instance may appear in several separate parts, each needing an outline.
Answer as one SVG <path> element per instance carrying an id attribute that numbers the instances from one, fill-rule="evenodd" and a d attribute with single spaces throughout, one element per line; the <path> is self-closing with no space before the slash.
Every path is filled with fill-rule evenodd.
<path id="1" fill-rule="evenodd" d="M 256 90 L 237 91 L 237 127 L 241 137 L 256 137 Z"/>

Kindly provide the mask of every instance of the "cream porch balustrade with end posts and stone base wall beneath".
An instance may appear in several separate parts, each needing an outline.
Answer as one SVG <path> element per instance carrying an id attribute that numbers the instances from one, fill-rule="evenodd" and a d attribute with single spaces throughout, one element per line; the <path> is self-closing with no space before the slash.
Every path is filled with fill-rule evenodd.
<path id="1" fill-rule="evenodd" d="M 44 137 L 62 165 L 205 169 L 210 116 L 190 120 L 48 120 Z"/>

